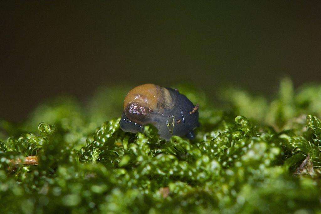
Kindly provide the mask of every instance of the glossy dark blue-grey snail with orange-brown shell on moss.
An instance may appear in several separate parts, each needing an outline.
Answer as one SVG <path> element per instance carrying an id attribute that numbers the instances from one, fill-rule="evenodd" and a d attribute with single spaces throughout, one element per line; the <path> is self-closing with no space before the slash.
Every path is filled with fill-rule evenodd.
<path id="1" fill-rule="evenodd" d="M 125 132 L 137 133 L 146 124 L 154 125 L 165 140 L 173 135 L 193 139 L 193 130 L 199 125 L 198 105 L 194 106 L 177 89 L 139 85 L 126 95 L 119 125 Z"/>

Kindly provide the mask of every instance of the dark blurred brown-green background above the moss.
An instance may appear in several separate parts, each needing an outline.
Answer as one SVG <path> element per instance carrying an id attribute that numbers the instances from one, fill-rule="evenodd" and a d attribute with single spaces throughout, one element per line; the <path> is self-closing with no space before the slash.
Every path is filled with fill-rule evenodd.
<path id="1" fill-rule="evenodd" d="M 0 118 L 101 85 L 236 85 L 270 96 L 320 82 L 318 1 L 1 1 Z"/>

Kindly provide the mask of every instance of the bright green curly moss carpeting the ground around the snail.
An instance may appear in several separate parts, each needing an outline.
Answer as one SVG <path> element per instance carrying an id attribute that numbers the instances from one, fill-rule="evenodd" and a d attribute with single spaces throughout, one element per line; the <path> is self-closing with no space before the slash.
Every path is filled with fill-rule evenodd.
<path id="1" fill-rule="evenodd" d="M 0 213 L 321 212 L 321 85 L 295 91 L 284 79 L 273 100 L 228 88 L 226 108 L 178 88 L 200 104 L 193 141 L 166 142 L 153 126 L 123 132 L 127 87 L 2 121 Z M 13 165 L 33 155 L 37 166 Z"/>

